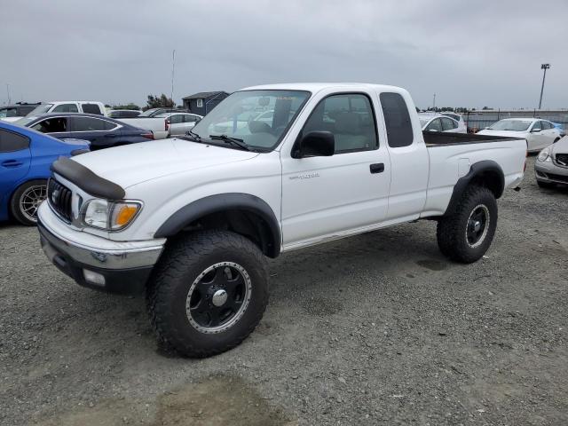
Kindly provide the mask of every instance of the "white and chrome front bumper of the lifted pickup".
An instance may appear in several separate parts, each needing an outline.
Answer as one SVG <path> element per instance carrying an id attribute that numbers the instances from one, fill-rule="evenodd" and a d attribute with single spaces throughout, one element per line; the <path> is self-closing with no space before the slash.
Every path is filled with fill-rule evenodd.
<path id="1" fill-rule="evenodd" d="M 50 226 L 53 218 L 59 219 L 45 204 L 38 211 L 37 228 L 45 256 L 59 271 L 83 287 L 108 293 L 134 295 L 144 290 L 154 264 L 162 254 L 163 244 L 152 246 L 148 241 L 138 241 L 137 247 L 137 241 L 133 241 L 125 248 L 125 243 L 96 237 L 101 242 L 99 247 L 87 246 L 71 240 L 68 234 L 62 236 L 55 226 Z M 76 233 L 76 237 L 84 235 L 80 231 L 67 230 L 69 232 Z M 89 238 L 92 242 L 91 235 Z"/>

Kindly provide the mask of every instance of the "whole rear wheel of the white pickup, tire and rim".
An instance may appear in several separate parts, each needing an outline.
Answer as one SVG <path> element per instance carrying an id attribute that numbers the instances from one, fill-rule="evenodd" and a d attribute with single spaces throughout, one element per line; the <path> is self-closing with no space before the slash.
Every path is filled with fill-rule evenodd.
<path id="1" fill-rule="evenodd" d="M 464 264 L 478 260 L 491 246 L 497 227 L 497 201 L 482 186 L 469 186 L 452 212 L 438 221 L 438 247 Z"/>

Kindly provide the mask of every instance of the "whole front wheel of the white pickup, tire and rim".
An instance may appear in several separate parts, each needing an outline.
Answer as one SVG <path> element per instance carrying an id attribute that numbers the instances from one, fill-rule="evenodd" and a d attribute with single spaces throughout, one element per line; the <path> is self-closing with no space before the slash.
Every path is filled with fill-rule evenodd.
<path id="1" fill-rule="evenodd" d="M 262 319 L 268 279 L 263 253 L 237 233 L 177 238 L 156 265 L 146 294 L 158 339 L 192 358 L 232 349 Z"/>

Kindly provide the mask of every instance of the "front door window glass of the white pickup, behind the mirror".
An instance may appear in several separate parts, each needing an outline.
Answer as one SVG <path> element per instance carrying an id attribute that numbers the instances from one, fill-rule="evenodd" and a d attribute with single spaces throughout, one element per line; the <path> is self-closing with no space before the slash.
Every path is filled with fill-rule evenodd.
<path id="1" fill-rule="evenodd" d="M 302 133 L 319 130 L 334 134 L 335 154 L 378 147 L 375 114 L 365 95 L 346 93 L 322 99 L 304 124 Z"/>

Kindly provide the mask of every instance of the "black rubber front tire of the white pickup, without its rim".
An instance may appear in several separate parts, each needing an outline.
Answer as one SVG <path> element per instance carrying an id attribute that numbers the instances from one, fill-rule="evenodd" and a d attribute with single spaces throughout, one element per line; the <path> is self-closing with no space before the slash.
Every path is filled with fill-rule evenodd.
<path id="1" fill-rule="evenodd" d="M 252 284 L 248 305 L 232 327 L 203 333 L 186 312 L 194 280 L 213 264 L 233 262 L 246 270 Z M 268 304 L 268 263 L 256 245 L 227 231 L 189 233 L 168 241 L 147 287 L 146 303 L 162 349 L 204 358 L 233 349 L 255 329 Z"/>

